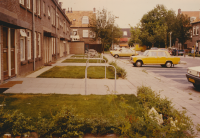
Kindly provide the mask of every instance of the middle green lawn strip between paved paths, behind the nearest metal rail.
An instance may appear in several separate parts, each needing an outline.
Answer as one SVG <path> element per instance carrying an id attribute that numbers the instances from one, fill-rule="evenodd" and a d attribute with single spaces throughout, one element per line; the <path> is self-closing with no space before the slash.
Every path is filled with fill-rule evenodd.
<path id="1" fill-rule="evenodd" d="M 85 78 L 85 68 L 85 66 L 55 66 L 40 74 L 38 78 Z M 115 75 L 110 68 L 106 69 L 106 78 L 114 79 Z M 88 78 L 105 78 L 105 67 L 88 67 L 87 72 Z"/>

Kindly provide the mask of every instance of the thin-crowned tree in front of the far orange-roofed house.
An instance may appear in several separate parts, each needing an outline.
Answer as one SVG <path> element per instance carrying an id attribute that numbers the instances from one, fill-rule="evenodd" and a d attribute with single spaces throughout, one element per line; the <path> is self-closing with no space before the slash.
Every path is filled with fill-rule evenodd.
<path id="1" fill-rule="evenodd" d="M 115 38 L 122 36 L 119 27 L 114 24 L 115 18 L 117 17 L 111 12 L 103 9 L 102 11 L 97 11 L 96 17 L 93 17 L 90 21 L 89 27 L 96 34 L 94 40 L 101 39 L 103 52 L 105 45 L 111 46 L 112 42 L 116 42 Z"/>

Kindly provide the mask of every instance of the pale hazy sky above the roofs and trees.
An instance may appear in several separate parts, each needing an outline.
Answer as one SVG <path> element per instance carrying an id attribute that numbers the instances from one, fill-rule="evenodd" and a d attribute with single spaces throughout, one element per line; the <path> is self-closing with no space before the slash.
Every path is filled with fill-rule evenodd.
<path id="1" fill-rule="evenodd" d="M 181 11 L 199 11 L 200 0 L 59 0 L 62 8 L 72 11 L 92 11 L 93 8 L 101 11 L 103 8 L 119 17 L 115 20 L 120 28 L 134 27 L 142 16 L 154 9 L 157 4 L 163 4 L 167 10 L 177 14 Z"/>

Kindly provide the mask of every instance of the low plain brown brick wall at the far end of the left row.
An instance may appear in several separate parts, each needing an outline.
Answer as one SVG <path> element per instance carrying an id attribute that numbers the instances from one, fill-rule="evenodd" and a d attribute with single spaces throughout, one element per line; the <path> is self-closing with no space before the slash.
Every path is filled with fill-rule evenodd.
<path id="1" fill-rule="evenodd" d="M 84 42 L 70 42 L 70 54 L 84 54 Z"/>

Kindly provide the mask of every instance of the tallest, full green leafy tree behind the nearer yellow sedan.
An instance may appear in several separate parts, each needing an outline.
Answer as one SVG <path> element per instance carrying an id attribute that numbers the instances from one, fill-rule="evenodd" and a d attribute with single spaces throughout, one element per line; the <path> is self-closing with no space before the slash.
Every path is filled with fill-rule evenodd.
<path id="1" fill-rule="evenodd" d="M 141 19 L 141 35 L 140 39 L 144 45 L 151 43 L 152 47 L 167 47 L 168 33 L 171 29 L 175 13 L 171 10 L 167 11 L 164 5 L 156 5 L 156 7 L 143 15 Z"/>

